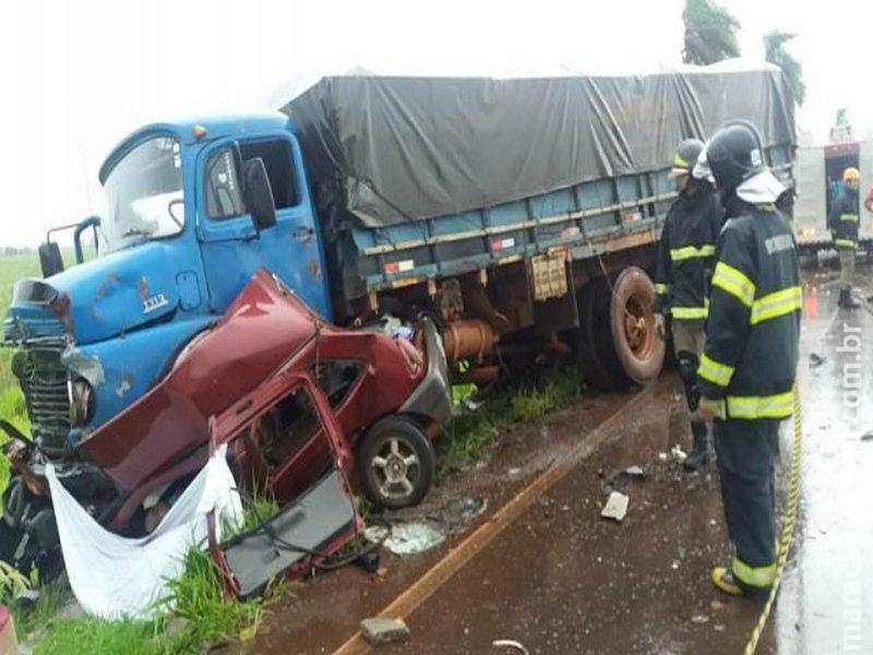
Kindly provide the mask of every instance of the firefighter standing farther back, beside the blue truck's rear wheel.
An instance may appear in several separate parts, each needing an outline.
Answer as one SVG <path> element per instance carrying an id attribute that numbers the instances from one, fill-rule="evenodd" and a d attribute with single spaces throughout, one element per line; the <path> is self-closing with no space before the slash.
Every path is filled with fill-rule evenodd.
<path id="1" fill-rule="evenodd" d="M 666 317 L 671 318 L 673 350 L 691 417 L 693 448 L 683 463 L 689 471 L 696 471 L 708 461 L 706 422 L 697 416 L 697 365 L 704 346 L 707 285 L 722 216 L 709 181 L 692 176 L 702 150 L 702 141 L 689 139 L 679 144 L 673 157 L 671 175 L 679 198 L 663 223 L 655 273 L 655 327 L 666 340 Z"/>

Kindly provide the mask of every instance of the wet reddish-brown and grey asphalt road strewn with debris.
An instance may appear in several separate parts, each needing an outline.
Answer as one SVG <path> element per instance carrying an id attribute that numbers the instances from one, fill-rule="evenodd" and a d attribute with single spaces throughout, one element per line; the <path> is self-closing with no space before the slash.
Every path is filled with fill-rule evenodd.
<path id="1" fill-rule="evenodd" d="M 869 270 L 859 283 L 859 297 L 873 294 Z M 758 653 L 873 653 L 873 313 L 869 305 L 839 310 L 836 299 L 833 273 L 808 272 L 801 502 Z M 726 597 L 708 582 L 709 569 L 731 555 L 715 464 L 690 475 L 670 454 L 675 443 L 687 450 L 691 439 L 674 372 L 638 393 L 606 431 L 595 427 L 633 394 L 586 396 L 504 434 L 489 462 L 447 480 L 416 511 L 449 533 L 442 547 L 405 558 L 384 553 L 375 574 L 349 568 L 316 575 L 271 607 L 253 642 L 234 650 L 333 652 L 361 619 L 379 614 L 587 439 L 590 448 L 565 475 L 404 617 L 408 643 L 379 651 L 511 653 L 518 651 L 492 642 L 514 640 L 531 654 L 742 653 L 762 605 Z M 784 427 L 782 498 L 792 439 L 791 426 Z M 615 475 L 632 465 L 645 475 Z M 621 523 L 600 517 L 611 490 L 630 497 Z M 469 524 L 446 517 L 445 508 L 464 498 L 486 499 L 483 516 Z"/>

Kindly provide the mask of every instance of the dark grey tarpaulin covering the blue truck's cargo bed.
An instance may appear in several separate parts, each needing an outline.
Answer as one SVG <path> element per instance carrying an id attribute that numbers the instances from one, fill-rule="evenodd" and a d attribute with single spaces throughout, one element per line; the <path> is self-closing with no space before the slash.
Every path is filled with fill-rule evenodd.
<path id="1" fill-rule="evenodd" d="M 282 108 L 297 123 L 328 230 L 421 221 L 665 168 L 677 144 L 744 118 L 794 141 L 775 67 L 641 76 L 324 78 Z M 327 211 L 324 211 L 327 210 Z"/>

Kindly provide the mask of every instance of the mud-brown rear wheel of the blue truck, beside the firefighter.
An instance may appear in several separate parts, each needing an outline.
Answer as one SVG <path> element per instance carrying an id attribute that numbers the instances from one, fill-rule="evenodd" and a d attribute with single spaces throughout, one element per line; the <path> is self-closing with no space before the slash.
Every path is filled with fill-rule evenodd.
<path id="1" fill-rule="evenodd" d="M 646 272 L 629 266 L 612 287 L 612 345 L 624 373 L 644 384 L 660 373 L 666 344 L 655 333 L 655 286 Z"/>

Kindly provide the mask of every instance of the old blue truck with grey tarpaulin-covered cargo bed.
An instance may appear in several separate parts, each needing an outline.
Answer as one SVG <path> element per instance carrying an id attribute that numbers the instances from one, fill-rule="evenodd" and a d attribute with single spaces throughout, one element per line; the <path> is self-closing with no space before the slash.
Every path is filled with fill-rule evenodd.
<path id="1" fill-rule="evenodd" d="M 14 288 L 4 343 L 34 456 L 75 462 L 262 266 L 339 324 L 428 314 L 456 381 L 555 354 L 601 388 L 646 382 L 672 151 L 732 118 L 790 184 L 793 100 L 768 66 L 328 78 L 279 112 L 142 128 L 100 168 L 75 264 L 47 242 L 44 278 Z"/>

